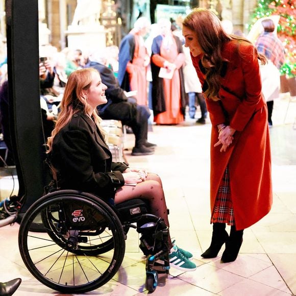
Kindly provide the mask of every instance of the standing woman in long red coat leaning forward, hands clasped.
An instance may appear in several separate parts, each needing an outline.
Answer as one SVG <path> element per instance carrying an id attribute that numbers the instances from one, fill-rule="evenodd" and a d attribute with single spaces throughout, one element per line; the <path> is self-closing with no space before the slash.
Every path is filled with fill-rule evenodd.
<path id="1" fill-rule="evenodd" d="M 243 229 L 272 206 L 272 177 L 266 102 L 259 63 L 264 56 L 243 38 L 228 35 L 206 9 L 183 22 L 185 46 L 202 83 L 212 123 L 211 223 L 213 234 L 204 258 L 226 249 L 222 262 L 237 258 Z M 226 224 L 231 226 L 230 235 Z"/>

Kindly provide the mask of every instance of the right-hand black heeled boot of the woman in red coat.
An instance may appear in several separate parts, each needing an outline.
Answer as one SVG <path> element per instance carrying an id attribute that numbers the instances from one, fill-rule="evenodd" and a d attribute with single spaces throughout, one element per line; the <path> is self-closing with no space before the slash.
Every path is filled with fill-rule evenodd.
<path id="1" fill-rule="evenodd" d="M 230 236 L 226 242 L 225 251 L 222 254 L 221 262 L 232 262 L 237 258 L 240 246 L 242 244 L 243 230 L 236 230 L 235 226 L 230 229 Z"/>

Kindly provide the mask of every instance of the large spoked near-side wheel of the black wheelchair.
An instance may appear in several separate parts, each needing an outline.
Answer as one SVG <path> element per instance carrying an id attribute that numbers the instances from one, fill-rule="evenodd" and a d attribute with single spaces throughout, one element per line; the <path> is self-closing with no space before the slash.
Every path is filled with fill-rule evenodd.
<path id="1" fill-rule="evenodd" d="M 35 232 L 36 224 L 44 231 Z M 22 218 L 18 243 L 33 276 L 64 293 L 101 287 L 125 254 L 124 232 L 113 210 L 96 196 L 73 190 L 35 202 Z"/>

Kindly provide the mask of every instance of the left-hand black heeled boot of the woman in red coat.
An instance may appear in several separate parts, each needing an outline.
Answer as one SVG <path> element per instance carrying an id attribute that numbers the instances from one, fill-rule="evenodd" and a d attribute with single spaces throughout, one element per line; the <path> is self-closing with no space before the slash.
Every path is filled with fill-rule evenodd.
<path id="1" fill-rule="evenodd" d="M 209 248 L 201 255 L 204 258 L 217 257 L 221 246 L 228 240 L 225 223 L 213 223 L 212 241 Z"/>

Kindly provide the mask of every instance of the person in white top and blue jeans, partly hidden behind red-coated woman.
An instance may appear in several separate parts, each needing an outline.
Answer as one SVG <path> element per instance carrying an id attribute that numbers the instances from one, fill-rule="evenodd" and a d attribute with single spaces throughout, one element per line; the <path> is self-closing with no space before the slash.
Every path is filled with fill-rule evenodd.
<path id="1" fill-rule="evenodd" d="M 189 48 L 183 45 L 183 51 L 185 54 L 185 64 L 183 72 L 185 92 L 188 94 L 189 117 L 195 118 L 195 98 L 197 97 L 198 103 L 201 108 L 201 117 L 198 120 L 196 120 L 196 123 L 204 125 L 206 123 L 207 118 L 207 106 L 204 95 L 202 94 L 202 85 L 200 83 L 198 76 L 196 76 L 196 71 L 192 65 Z"/>

